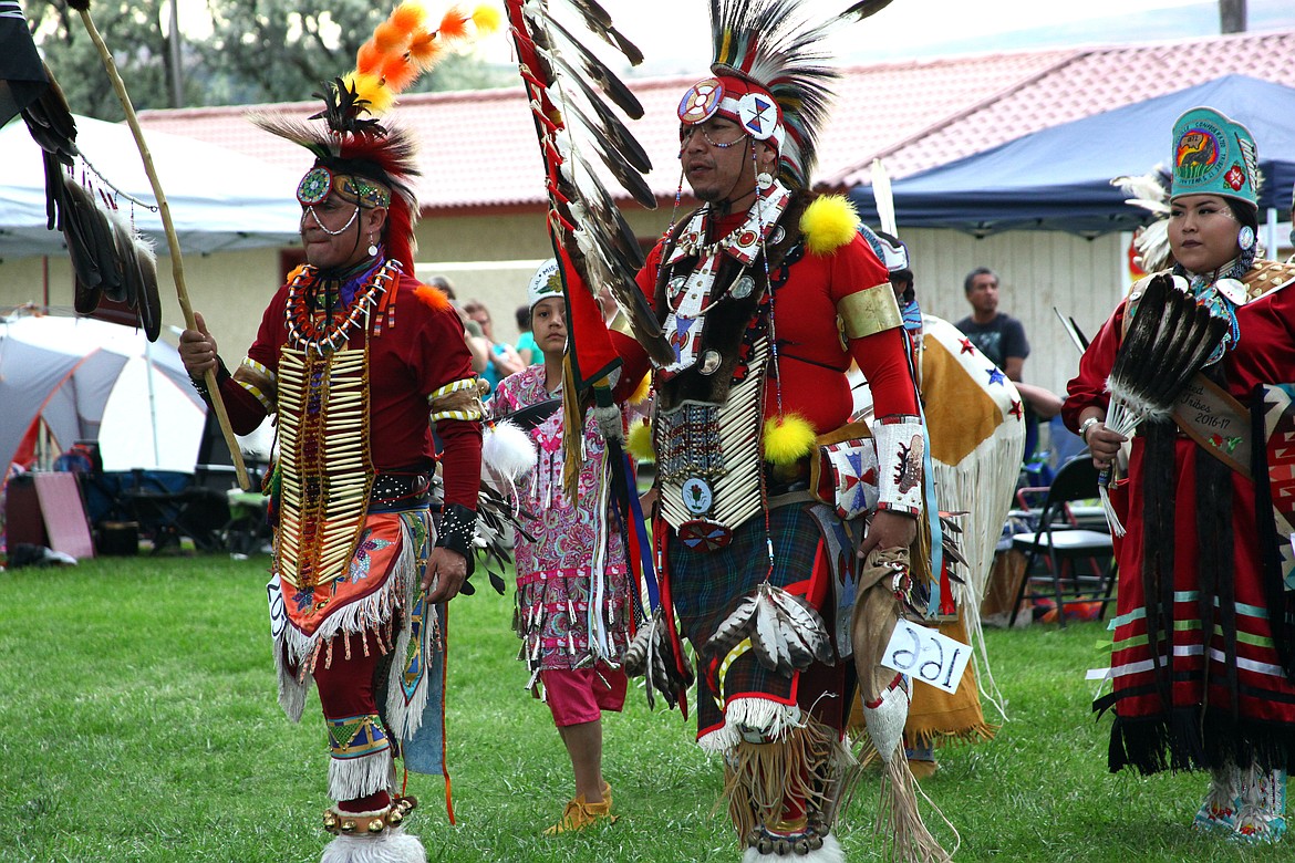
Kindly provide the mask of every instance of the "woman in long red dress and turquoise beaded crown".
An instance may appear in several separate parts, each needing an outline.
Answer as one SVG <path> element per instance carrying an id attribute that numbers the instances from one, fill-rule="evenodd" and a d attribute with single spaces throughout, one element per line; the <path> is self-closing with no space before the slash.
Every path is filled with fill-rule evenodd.
<path id="1" fill-rule="evenodd" d="M 1202 348 L 1208 356 L 1178 392 L 1142 405 L 1158 410 L 1132 439 L 1128 476 L 1110 488 L 1127 530 L 1116 541 L 1114 691 L 1096 706 L 1115 712 L 1112 771 L 1208 769 L 1194 825 L 1273 842 L 1286 831 L 1295 757 L 1295 580 L 1276 486 L 1289 455 L 1269 441 L 1295 422 L 1291 387 L 1277 386 L 1295 380 L 1295 268 L 1256 259 L 1250 132 L 1198 107 L 1178 118 L 1173 146 L 1173 268 L 1134 285 L 1085 351 L 1063 409 L 1098 468 L 1125 441 L 1107 427 L 1112 399 L 1137 408 L 1181 355 L 1138 336 L 1158 323 L 1141 317 L 1160 314 L 1153 298 L 1185 292 L 1189 313 L 1204 307 L 1222 322 L 1221 340 Z M 1182 334 L 1156 331 L 1175 329 Z M 1153 373 L 1121 371 L 1138 367 Z"/>

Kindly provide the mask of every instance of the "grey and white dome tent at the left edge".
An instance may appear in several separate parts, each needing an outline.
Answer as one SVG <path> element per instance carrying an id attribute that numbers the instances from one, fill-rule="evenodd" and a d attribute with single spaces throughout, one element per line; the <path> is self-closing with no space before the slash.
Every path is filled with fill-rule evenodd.
<path id="1" fill-rule="evenodd" d="M 192 472 L 206 405 L 179 352 L 91 318 L 0 321 L 0 466 L 40 418 L 61 449 L 97 440 L 104 470 Z"/>

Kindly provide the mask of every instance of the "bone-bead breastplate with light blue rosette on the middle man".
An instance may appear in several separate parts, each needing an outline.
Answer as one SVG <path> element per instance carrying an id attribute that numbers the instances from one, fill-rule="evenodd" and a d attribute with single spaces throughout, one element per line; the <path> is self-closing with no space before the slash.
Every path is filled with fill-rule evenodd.
<path id="1" fill-rule="evenodd" d="M 676 530 L 729 533 L 760 512 L 760 432 L 768 343 L 723 405 L 686 400 L 655 418 L 660 512 Z"/>

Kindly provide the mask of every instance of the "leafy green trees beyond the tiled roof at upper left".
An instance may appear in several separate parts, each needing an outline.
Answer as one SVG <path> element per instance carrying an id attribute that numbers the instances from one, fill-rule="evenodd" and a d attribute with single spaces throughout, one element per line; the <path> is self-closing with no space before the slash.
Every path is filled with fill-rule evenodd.
<path id="1" fill-rule="evenodd" d="M 98 53 L 66 0 L 32 4 L 28 16 L 45 62 L 73 111 L 122 119 Z M 372 0 L 207 0 L 211 35 L 184 39 L 183 105 L 310 101 L 322 82 L 355 67 L 355 53 L 395 6 Z M 95 25 L 137 109 L 172 107 L 170 0 L 96 0 Z M 181 9 L 181 13 L 184 10 Z M 180 27 L 194 22 L 180 21 Z M 448 57 L 411 92 L 513 84 L 517 72 L 473 57 Z"/>

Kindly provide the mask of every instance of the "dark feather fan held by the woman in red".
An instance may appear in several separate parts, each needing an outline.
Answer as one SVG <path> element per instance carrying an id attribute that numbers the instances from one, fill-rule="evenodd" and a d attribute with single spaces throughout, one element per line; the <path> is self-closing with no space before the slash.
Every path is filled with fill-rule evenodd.
<path id="1" fill-rule="evenodd" d="M 1178 276 L 1162 273 L 1153 277 L 1137 301 L 1106 388 L 1111 393 L 1106 427 L 1125 437 L 1133 435 L 1143 421 L 1163 422 L 1173 411 L 1173 402 L 1182 387 L 1215 352 L 1228 333 L 1228 323 L 1195 301 L 1188 283 Z M 1106 496 L 1103 474 L 1102 507 L 1115 536 L 1124 536 L 1124 527 L 1115 516 Z"/>

